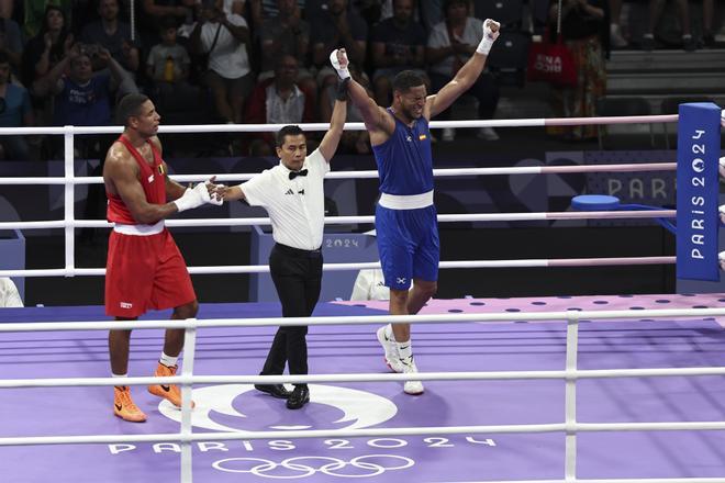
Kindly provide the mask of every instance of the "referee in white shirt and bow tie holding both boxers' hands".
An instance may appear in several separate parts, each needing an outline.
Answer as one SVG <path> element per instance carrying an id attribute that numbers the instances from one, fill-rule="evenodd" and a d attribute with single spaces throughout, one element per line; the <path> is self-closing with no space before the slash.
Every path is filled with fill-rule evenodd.
<path id="1" fill-rule="evenodd" d="M 312 315 L 322 284 L 322 234 L 324 231 L 323 179 L 330 171 L 343 135 L 347 115 L 347 83 L 342 81 L 330 121 L 330 131 L 320 147 L 308 156 L 305 136 L 299 126 L 285 126 L 277 133 L 279 165 L 235 187 L 217 184 L 217 198 L 246 200 L 269 213 L 275 246 L 269 255 L 282 316 Z M 308 373 L 306 326 L 280 327 L 275 335 L 263 375 L 281 374 L 285 363 L 290 374 Z M 286 398 L 287 407 L 299 409 L 310 401 L 306 384 L 295 384 L 291 393 L 282 384 L 257 384 L 258 391 Z"/>

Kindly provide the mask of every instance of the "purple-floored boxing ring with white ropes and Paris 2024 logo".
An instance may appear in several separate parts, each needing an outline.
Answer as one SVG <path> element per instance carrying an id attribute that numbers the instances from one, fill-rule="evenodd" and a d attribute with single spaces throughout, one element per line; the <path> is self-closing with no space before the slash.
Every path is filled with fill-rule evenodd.
<path id="1" fill-rule="evenodd" d="M 480 127 L 612 122 L 677 122 L 678 116 L 440 122 Z M 326 125 L 303 125 L 306 131 Z M 171 132 L 270 131 L 278 126 L 166 126 Z M 353 125 L 350 128 L 362 128 Z M 0 134 L 4 130 L 0 130 Z M 63 269 L 0 270 L 0 276 L 102 276 L 74 259 L 76 134 L 119 128 L 21 128 L 63 134 L 66 173 L 3 178 L 2 184 L 65 187 L 65 218 L 0 223 L 63 228 Z M 26 133 L 25 133 L 26 132 Z M 18 134 L 18 131 L 13 132 Z M 676 164 L 435 170 L 436 176 L 547 173 L 557 170 L 673 170 Z M 213 175 L 213 173 L 210 173 Z M 209 175 L 179 176 L 201 181 Z M 331 172 L 377 177 L 375 171 Z M 220 181 L 248 179 L 220 176 Z M 70 209 L 68 207 L 70 205 Z M 674 217 L 673 210 L 440 214 L 439 222 Z M 168 226 L 268 224 L 267 218 L 168 221 Z M 328 224 L 372 223 L 337 216 Z M 674 263 L 674 257 L 444 260 L 442 269 Z M 359 270 L 379 263 L 326 263 Z M 266 266 L 189 267 L 191 273 L 258 273 Z M 301 480 L 468 482 L 725 481 L 725 302 L 722 294 L 433 300 L 415 316 L 389 316 L 384 302 L 324 302 L 311 318 L 279 318 L 276 303 L 201 304 L 197 319 L 154 312 L 108 321 L 102 306 L 7 308 L 0 315 L 0 474 L 3 481 L 116 482 Z M 602 310 L 604 308 L 604 310 Z M 415 375 L 386 373 L 375 328 L 414 323 Z M 259 377 L 279 325 L 310 325 L 310 375 Z M 150 373 L 161 329 L 187 333 L 182 372 L 127 378 L 149 416 L 112 416 L 105 334 L 136 328 L 130 374 Z M 424 395 L 402 393 L 406 379 Z M 158 403 L 143 385 L 182 386 L 193 411 Z M 255 383 L 309 382 L 311 403 L 290 412 Z M 193 385 L 193 387 L 192 387 Z"/>

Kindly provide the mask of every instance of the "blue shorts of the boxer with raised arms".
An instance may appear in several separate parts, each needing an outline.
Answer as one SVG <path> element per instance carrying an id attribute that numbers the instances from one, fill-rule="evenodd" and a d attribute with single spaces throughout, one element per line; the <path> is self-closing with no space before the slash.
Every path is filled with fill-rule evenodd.
<path id="1" fill-rule="evenodd" d="M 438 280 L 440 240 L 434 205 L 416 210 L 378 205 L 375 227 L 386 287 L 408 290 L 413 279 Z"/>

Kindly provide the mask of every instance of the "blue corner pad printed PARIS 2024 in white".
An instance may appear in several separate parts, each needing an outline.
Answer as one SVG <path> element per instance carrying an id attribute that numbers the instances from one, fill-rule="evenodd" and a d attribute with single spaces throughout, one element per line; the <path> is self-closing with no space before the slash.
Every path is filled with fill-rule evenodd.
<path id="1" fill-rule="evenodd" d="M 721 109 L 680 104 L 677 148 L 677 277 L 720 281 L 717 193 Z"/>

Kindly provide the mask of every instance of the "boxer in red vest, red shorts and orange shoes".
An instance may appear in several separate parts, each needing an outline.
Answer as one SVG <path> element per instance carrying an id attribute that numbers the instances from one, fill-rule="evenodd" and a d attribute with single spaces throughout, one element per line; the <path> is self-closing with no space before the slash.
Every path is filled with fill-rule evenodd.
<path id="1" fill-rule="evenodd" d="M 221 204 L 221 201 L 210 199 L 204 183 L 188 189 L 168 178 L 161 143 L 156 137 L 160 116 L 146 96 L 124 97 L 118 115 L 125 128 L 109 149 L 103 166 L 108 220 L 115 224 L 109 238 L 105 267 L 105 313 L 116 321 L 132 321 L 147 310 L 174 307 L 172 319 L 194 317 L 199 308 L 197 295 L 183 257 L 164 220 L 177 212 L 204 203 Z M 109 334 L 114 378 L 126 377 L 130 340 L 131 330 Z M 182 347 L 183 329 L 167 329 L 154 375 L 175 375 Z M 150 385 L 148 391 L 181 406 L 181 392 L 176 385 Z M 146 420 L 123 383 L 114 386 L 113 405 L 113 413 L 122 419 Z"/>

